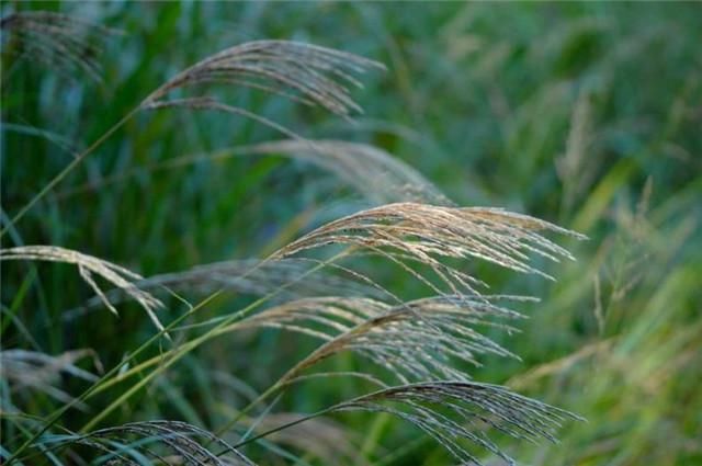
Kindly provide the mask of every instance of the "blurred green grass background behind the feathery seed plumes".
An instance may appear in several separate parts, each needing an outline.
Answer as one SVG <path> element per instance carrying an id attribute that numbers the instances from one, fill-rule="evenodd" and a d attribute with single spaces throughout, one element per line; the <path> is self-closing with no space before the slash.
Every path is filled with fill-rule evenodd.
<path id="1" fill-rule="evenodd" d="M 485 359 L 475 378 L 588 419 L 566 424 L 558 445 L 507 440 L 505 450 L 524 465 L 702 464 L 700 3 L 2 8 L 3 15 L 58 10 L 124 32 L 105 38 L 98 57 L 102 81 L 3 54 L 3 226 L 70 161 L 71 150 L 89 146 L 167 78 L 210 54 L 258 38 L 353 52 L 388 70 L 363 77 L 365 89 L 353 96 L 364 114 L 352 122 L 260 92 L 219 92 L 302 136 L 382 147 L 460 205 L 506 207 L 590 238 L 564 242 L 577 262 L 544 264 L 555 283 L 477 269 L 492 291 L 531 294 L 541 303 L 520 307 L 530 316 L 521 333 L 492 336 L 523 361 Z M 47 133 L 36 135 L 36 128 Z M 363 205 L 333 175 L 282 157 L 160 166 L 281 137 L 231 115 L 140 114 L 31 211 L 3 247 L 57 245 L 151 275 L 261 257 L 321 219 Z M 404 275 L 385 282 L 411 293 Z M 152 328 L 131 305 L 121 306 L 120 319 L 103 309 L 65 318 L 91 294 L 69 266 L 3 264 L 3 318 L 16 312 L 25 328 L 7 326 L 2 348 L 50 354 L 92 348 L 112 367 Z M 208 316 L 230 310 L 237 299 L 244 298 L 218 302 Z M 173 302 L 165 316 L 177 312 Z M 216 375 L 263 389 L 310 348 L 297 339 L 263 332 L 207 344 L 105 424 L 168 418 L 216 429 L 227 404 L 238 402 Z M 69 393 L 80 391 L 80 382 L 66 384 Z M 276 409 L 306 412 L 358 393 L 348 380 L 307 385 Z M 120 387 L 104 399 L 115 394 Z M 45 397 L 29 404 L 37 416 L 56 407 Z M 77 429 L 90 416 L 71 411 L 63 424 Z M 337 421 L 372 464 L 451 464 L 437 444 L 417 441 L 420 433 L 399 421 Z"/>

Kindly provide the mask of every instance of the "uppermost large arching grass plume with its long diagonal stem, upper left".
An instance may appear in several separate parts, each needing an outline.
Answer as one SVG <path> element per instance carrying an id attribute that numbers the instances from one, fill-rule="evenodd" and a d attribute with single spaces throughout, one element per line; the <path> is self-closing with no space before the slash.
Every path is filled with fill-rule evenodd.
<path id="1" fill-rule="evenodd" d="M 189 98 L 182 101 L 163 100 L 176 89 L 216 82 L 217 79 L 222 77 L 247 76 L 290 87 L 303 95 L 308 96 L 315 104 L 338 115 L 347 116 L 352 111 L 360 111 L 360 106 L 351 100 L 349 90 L 344 86 L 339 84 L 337 80 L 358 86 L 358 81 L 355 81 L 351 75 L 362 73 L 369 68 L 384 67 L 376 61 L 353 54 L 286 41 L 251 42 L 212 55 L 184 71 L 181 71 L 149 93 L 93 144 L 78 154 L 73 160 L 45 184 L 30 202 L 20 208 L 10 220 L 10 224 L 0 230 L 0 238 L 4 236 L 11 226 L 20 221 L 37 202 L 73 171 L 86 157 L 92 154 L 143 110 L 159 106 L 189 106 L 196 103 L 197 107 L 226 110 L 228 112 L 246 114 L 245 116 L 249 117 L 253 116 L 253 114 L 248 111 L 223 104 L 206 95 Z M 239 81 L 236 83 L 241 84 Z M 264 117 L 256 116 L 259 121 L 267 121 Z M 273 122 L 269 121 L 269 123 Z M 274 125 L 278 126 L 276 124 Z"/>

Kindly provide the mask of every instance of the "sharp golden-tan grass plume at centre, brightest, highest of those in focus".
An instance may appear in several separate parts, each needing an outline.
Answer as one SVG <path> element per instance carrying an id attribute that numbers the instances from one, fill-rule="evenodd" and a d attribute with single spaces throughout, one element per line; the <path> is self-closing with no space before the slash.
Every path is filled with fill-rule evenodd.
<path id="1" fill-rule="evenodd" d="M 463 288 L 474 294 L 466 274 L 441 263 L 440 258 L 480 259 L 553 280 L 529 263 L 529 254 L 553 261 L 573 259 L 565 248 L 542 235 L 548 231 L 585 238 L 547 221 L 498 208 L 396 203 L 330 221 L 281 248 L 276 257 L 327 245 L 349 245 L 395 261 L 408 257 L 431 266 L 454 293 Z"/>

